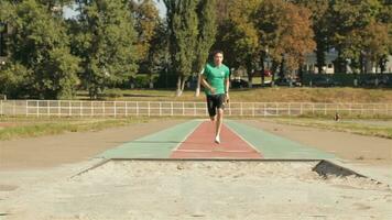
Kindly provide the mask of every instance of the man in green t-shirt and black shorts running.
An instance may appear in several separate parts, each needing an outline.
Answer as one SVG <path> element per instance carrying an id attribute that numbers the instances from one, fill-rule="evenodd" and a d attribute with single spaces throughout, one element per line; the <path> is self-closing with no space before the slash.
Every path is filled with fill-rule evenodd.
<path id="1" fill-rule="evenodd" d="M 202 74 L 202 85 L 207 97 L 208 113 L 215 125 L 215 143 L 220 143 L 220 128 L 224 120 L 225 103 L 229 102 L 229 67 L 222 64 L 224 52 L 215 51 L 214 64 L 207 64 Z M 218 114 L 218 116 L 217 116 Z"/>

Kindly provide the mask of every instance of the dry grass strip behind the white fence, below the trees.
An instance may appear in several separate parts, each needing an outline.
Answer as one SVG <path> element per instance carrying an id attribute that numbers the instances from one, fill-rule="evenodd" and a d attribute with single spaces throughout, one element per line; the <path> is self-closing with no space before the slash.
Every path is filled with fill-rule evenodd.
<path id="1" fill-rule="evenodd" d="M 108 90 L 110 94 L 110 89 Z M 117 97 L 105 97 L 105 100 L 143 100 L 143 101 L 204 101 L 202 92 L 195 97 L 195 92 L 186 90 L 183 96 L 175 97 L 172 90 L 115 90 Z M 231 89 L 232 102 L 383 102 L 392 103 L 392 89 L 364 89 L 364 88 L 254 88 Z M 77 99 L 88 99 L 87 92 L 80 91 Z"/>

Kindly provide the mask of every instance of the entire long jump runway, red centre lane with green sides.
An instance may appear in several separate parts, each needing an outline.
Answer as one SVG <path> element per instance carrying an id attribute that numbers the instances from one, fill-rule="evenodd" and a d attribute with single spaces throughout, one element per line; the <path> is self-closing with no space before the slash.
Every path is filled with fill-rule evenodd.
<path id="1" fill-rule="evenodd" d="M 206 120 L 190 120 L 157 133 L 130 141 L 104 152 L 108 160 L 327 160 L 330 153 L 305 146 L 260 129 L 227 120 L 221 143 L 214 143 L 215 125 Z"/>

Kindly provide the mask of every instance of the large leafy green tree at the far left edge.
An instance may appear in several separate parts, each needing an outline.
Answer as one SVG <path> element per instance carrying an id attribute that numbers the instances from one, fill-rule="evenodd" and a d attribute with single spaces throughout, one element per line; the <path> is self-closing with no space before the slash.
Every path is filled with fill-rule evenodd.
<path id="1" fill-rule="evenodd" d="M 8 19 L 12 32 L 7 67 L 19 73 L 25 70 L 18 77 L 28 77 L 22 90 L 28 88 L 31 97 L 72 98 L 77 86 L 79 61 L 69 53 L 64 21 L 35 0 L 12 6 L 13 13 Z M 10 69 L 1 74 L 7 75 Z M 10 80 L 11 84 L 15 81 L 20 80 Z"/>

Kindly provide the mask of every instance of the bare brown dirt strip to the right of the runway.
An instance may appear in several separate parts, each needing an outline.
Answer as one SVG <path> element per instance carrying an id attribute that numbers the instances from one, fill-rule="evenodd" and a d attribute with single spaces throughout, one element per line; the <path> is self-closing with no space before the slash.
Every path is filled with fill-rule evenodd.
<path id="1" fill-rule="evenodd" d="M 279 124 L 269 120 L 242 121 L 254 128 L 335 154 L 345 166 L 392 186 L 392 140 L 323 129 Z"/>

